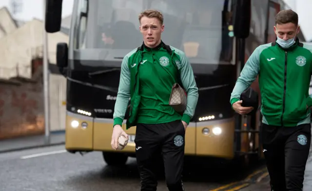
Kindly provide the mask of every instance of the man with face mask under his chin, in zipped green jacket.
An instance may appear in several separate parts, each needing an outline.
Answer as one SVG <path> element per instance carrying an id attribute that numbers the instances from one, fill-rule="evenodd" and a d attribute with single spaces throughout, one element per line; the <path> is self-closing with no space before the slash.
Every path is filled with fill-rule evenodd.
<path id="1" fill-rule="evenodd" d="M 240 94 L 259 75 L 263 152 L 272 191 L 302 191 L 311 142 L 309 85 L 312 47 L 299 42 L 298 15 L 280 11 L 275 18 L 277 40 L 258 46 L 245 64 L 231 94 L 231 105 L 239 114 Z"/>

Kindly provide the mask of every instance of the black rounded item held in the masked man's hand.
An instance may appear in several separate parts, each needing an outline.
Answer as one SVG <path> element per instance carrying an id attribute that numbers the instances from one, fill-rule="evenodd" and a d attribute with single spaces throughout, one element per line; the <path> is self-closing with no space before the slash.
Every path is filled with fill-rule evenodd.
<path id="1" fill-rule="evenodd" d="M 246 115 L 252 115 L 257 111 L 259 106 L 259 96 L 258 93 L 253 90 L 253 88 L 248 87 L 247 89 L 245 89 L 245 91 L 240 94 L 240 100 L 243 101 L 243 107 L 254 107 L 254 109 Z"/>

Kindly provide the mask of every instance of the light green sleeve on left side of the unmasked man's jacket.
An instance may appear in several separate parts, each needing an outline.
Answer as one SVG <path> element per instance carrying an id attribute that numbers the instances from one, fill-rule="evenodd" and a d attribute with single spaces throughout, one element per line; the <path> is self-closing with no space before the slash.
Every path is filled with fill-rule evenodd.
<path id="1" fill-rule="evenodd" d="M 119 87 L 117 99 L 114 108 L 114 125 L 122 125 L 125 117 L 126 109 L 130 98 L 130 70 L 128 67 L 128 57 L 125 56 L 121 63 L 121 72 L 119 79 Z"/>

